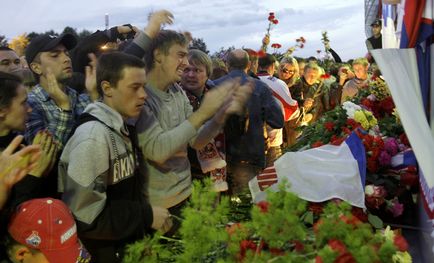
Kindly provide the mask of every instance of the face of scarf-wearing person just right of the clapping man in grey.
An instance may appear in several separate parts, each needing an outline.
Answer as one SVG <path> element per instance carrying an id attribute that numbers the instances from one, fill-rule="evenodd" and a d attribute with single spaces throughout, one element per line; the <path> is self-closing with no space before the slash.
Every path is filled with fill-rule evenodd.
<path id="1" fill-rule="evenodd" d="M 207 79 L 208 75 L 204 65 L 190 63 L 184 69 L 181 83 L 182 87 L 188 91 L 202 93 Z"/>

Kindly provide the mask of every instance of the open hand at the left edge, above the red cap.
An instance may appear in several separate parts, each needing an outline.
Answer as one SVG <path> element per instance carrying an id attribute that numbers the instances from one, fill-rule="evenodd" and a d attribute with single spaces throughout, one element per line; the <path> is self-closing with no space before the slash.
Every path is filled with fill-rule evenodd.
<path id="1" fill-rule="evenodd" d="M 0 154 L 0 208 L 5 204 L 12 186 L 35 167 L 41 156 L 39 146 L 36 145 L 24 147 L 14 153 L 22 141 L 22 135 L 15 137 Z"/>

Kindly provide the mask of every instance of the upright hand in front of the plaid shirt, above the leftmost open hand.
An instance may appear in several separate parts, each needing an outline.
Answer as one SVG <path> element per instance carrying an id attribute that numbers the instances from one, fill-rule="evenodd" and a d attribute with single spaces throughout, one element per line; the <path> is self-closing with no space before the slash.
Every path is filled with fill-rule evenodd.
<path id="1" fill-rule="evenodd" d="M 48 131 L 39 131 L 33 139 L 33 145 L 40 146 L 42 156 L 29 174 L 35 177 L 47 175 L 56 163 L 58 144 Z"/>

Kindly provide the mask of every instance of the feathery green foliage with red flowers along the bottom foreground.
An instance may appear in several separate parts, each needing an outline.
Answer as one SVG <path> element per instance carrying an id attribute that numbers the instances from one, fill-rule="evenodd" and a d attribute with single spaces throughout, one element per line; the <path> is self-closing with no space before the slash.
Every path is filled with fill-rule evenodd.
<path id="1" fill-rule="evenodd" d="M 204 185 L 194 182 L 183 211 L 181 240 L 157 233 L 128 246 L 124 262 L 304 263 L 317 256 L 334 262 L 342 256 L 336 243 L 356 262 L 391 262 L 396 254 L 393 243 L 355 218 L 345 202 L 329 202 L 312 228 L 307 202 L 287 192 L 285 182 L 277 192 L 268 190 L 267 201 L 251 209 L 235 205 L 240 204 L 238 197 L 219 200 L 210 189 L 209 180 Z M 233 211 L 249 214 L 243 217 L 249 221 L 229 224 Z"/>

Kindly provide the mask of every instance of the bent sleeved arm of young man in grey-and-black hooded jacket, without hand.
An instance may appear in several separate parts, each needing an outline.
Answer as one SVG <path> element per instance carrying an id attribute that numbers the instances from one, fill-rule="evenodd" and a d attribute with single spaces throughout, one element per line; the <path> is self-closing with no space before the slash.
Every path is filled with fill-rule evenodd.
<path id="1" fill-rule="evenodd" d="M 107 148 L 105 143 L 92 139 L 71 145 L 67 167 L 64 163 L 59 167 L 60 176 L 65 179 L 62 199 L 74 214 L 84 238 L 121 240 L 144 234 L 152 224 L 149 204 L 107 198 Z M 62 175 L 62 171 L 67 175 Z"/>

